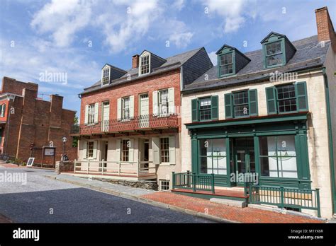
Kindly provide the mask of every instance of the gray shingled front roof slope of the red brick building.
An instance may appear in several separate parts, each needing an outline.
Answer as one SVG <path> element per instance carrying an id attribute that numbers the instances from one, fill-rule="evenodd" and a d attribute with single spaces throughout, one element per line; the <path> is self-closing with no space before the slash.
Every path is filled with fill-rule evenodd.
<path id="1" fill-rule="evenodd" d="M 186 61 L 188 61 L 191 57 L 193 57 L 194 54 L 196 54 L 201 49 L 203 49 L 203 47 L 198 48 L 198 49 L 190 50 L 189 52 L 184 52 L 184 53 L 181 53 L 181 54 L 177 54 L 177 55 L 174 55 L 172 57 L 168 57 L 168 58 L 166 58 L 167 61 L 164 62 L 164 64 L 162 64 L 158 68 L 154 69 L 154 71 L 151 74 L 142 75 L 141 78 L 145 78 L 146 76 L 152 76 L 153 74 L 159 74 L 159 73 L 162 73 L 164 71 L 169 71 L 171 69 L 177 69 L 181 65 L 183 65 Z M 119 85 L 121 83 L 127 83 L 127 82 L 129 82 L 127 80 L 128 76 L 130 76 L 132 78 L 132 81 L 134 81 L 135 78 L 139 77 L 138 76 L 138 68 L 137 69 L 129 69 L 129 70 L 126 70 L 126 71 L 127 71 L 127 74 L 121 76 L 121 78 L 117 78 L 117 79 L 111 81 L 110 85 L 104 86 L 103 88 L 108 88 L 110 86 L 116 86 L 116 85 Z M 91 92 L 91 91 L 94 91 L 94 90 L 99 90 L 100 88 L 101 88 L 101 81 L 99 80 L 96 83 L 94 83 L 92 86 L 90 86 L 88 88 L 84 88 L 83 93 L 88 93 L 88 92 Z"/>

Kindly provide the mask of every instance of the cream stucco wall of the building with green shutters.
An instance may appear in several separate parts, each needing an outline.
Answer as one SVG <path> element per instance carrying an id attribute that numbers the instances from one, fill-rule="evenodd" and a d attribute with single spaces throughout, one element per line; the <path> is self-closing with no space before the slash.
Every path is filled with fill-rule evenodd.
<path id="1" fill-rule="evenodd" d="M 330 160 L 327 139 L 327 115 L 325 107 L 325 87 L 322 71 L 302 74 L 297 82 L 306 81 L 308 90 L 308 107 L 311 117 L 308 119 L 308 152 L 312 188 L 320 188 L 320 204 L 322 216 L 332 216 L 331 187 L 330 187 Z M 225 119 L 224 94 L 235 90 L 257 89 L 259 116 L 267 115 L 267 101 L 265 88 L 285 82 L 252 83 L 218 90 L 203 91 L 200 93 L 182 95 L 182 172 L 191 170 L 191 139 L 184 124 L 191 123 L 191 100 L 207 95 L 218 95 L 219 119 Z M 336 97 L 334 97 L 336 98 Z M 335 99 L 334 99 L 335 100 Z M 336 105 L 336 104 L 335 104 Z M 336 135 L 336 133 L 335 133 Z M 315 211 L 309 211 L 314 213 Z"/>

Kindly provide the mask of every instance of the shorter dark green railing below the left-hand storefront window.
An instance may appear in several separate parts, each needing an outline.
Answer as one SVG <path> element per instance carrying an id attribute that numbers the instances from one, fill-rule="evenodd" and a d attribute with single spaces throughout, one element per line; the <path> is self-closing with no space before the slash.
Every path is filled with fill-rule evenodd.
<path id="1" fill-rule="evenodd" d="M 215 177 L 213 174 L 195 174 L 187 172 L 172 172 L 172 189 L 191 189 L 215 193 Z"/>

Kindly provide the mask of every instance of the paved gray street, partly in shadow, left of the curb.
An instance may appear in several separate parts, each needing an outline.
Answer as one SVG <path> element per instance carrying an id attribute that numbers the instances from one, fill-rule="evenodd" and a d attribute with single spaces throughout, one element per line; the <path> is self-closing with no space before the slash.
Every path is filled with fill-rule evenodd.
<path id="1" fill-rule="evenodd" d="M 4 168 L 26 173 L 27 183 L 0 182 L 0 214 L 18 223 L 211 223 L 189 214 L 51 180 L 53 171 Z"/>

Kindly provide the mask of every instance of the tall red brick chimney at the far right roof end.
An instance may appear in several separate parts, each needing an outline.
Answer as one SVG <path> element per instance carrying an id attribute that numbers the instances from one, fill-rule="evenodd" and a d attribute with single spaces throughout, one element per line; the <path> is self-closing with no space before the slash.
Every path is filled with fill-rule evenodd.
<path id="1" fill-rule="evenodd" d="M 318 41 L 328 41 L 332 43 L 332 49 L 336 52 L 335 30 L 327 11 L 327 7 L 315 9 L 316 25 L 318 26 Z"/>

